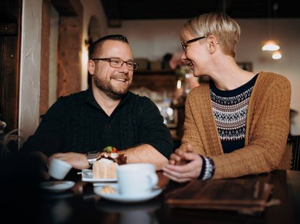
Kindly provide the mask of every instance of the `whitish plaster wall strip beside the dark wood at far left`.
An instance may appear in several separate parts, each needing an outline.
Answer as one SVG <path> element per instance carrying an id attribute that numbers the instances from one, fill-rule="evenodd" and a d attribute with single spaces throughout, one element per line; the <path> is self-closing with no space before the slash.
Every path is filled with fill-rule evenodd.
<path id="1" fill-rule="evenodd" d="M 41 6 L 40 0 L 23 1 L 19 129 L 22 130 L 24 139 L 34 133 L 39 124 Z"/>

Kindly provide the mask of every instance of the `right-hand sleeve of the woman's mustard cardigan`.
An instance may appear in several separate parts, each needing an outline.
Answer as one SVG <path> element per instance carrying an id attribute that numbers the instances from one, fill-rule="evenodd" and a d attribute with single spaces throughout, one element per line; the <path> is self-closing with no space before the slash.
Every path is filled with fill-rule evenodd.
<path id="1" fill-rule="evenodd" d="M 247 123 L 248 144 L 229 154 L 211 156 L 216 166 L 214 179 L 270 172 L 279 165 L 290 127 L 290 83 L 279 77 L 265 87 L 254 98 L 252 108 L 248 107 L 253 110 Z"/>

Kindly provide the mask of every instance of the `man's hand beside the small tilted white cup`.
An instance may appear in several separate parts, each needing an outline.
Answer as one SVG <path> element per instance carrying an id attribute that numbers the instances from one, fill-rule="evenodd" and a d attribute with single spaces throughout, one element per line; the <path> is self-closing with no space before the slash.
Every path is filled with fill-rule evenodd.
<path id="1" fill-rule="evenodd" d="M 90 165 L 88 164 L 88 159 L 86 159 L 85 154 L 76 153 L 76 152 L 66 152 L 66 153 L 55 153 L 50 156 L 49 159 L 61 159 L 70 163 L 74 169 L 83 170 L 88 169 Z"/>

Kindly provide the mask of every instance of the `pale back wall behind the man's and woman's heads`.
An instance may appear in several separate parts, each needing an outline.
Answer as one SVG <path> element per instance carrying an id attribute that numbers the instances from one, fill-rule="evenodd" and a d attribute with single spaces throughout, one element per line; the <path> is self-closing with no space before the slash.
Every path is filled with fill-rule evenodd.
<path id="1" fill-rule="evenodd" d="M 270 52 L 262 52 L 261 45 L 269 37 L 268 19 L 236 19 L 241 26 L 237 45 L 237 61 L 250 61 L 253 71 L 271 71 L 287 77 L 292 85 L 291 108 L 294 117 L 292 134 L 300 134 L 300 19 L 274 19 L 272 37 L 279 40 L 282 59 L 271 59 Z M 121 28 L 109 28 L 109 34 L 124 34 L 132 46 L 134 57 L 161 59 L 167 52 L 181 52 L 179 31 L 186 20 L 123 21 Z"/>

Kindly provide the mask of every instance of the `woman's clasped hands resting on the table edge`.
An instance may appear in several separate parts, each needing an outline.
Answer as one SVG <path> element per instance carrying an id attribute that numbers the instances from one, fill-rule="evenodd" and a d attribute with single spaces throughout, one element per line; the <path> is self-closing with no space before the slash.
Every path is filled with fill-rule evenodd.
<path id="1" fill-rule="evenodd" d="M 194 153 L 192 145 L 175 150 L 169 164 L 163 167 L 163 175 L 173 181 L 186 182 L 197 179 L 202 169 L 202 158 Z"/>

